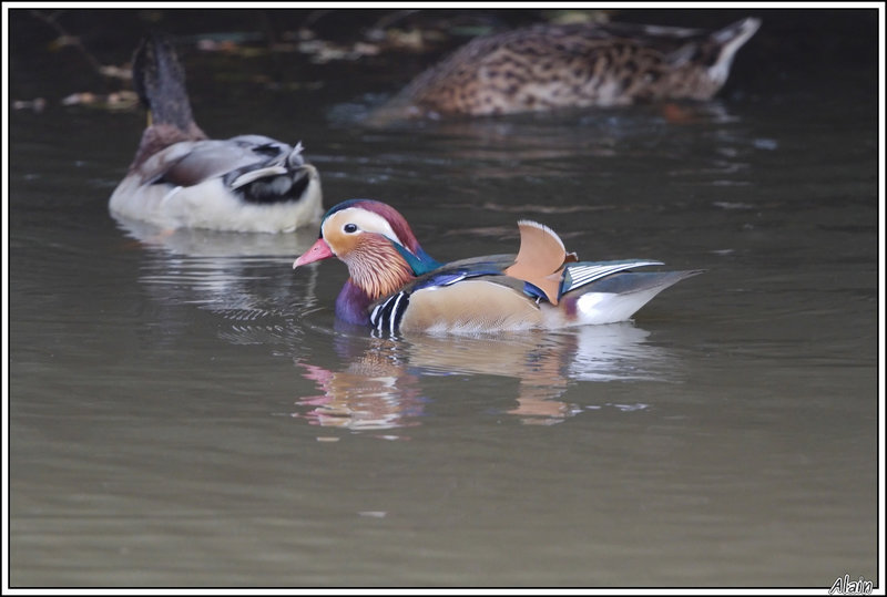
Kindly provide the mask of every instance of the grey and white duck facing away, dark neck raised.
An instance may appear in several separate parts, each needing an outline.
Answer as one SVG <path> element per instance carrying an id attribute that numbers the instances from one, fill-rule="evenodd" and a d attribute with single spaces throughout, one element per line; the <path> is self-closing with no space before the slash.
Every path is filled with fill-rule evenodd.
<path id="1" fill-rule="evenodd" d="M 164 228 L 281 233 L 323 214 L 317 169 L 295 147 L 262 135 L 211 140 L 191 114 L 184 71 L 167 39 L 146 38 L 133 85 L 149 110 L 135 158 L 111 212 Z"/>

